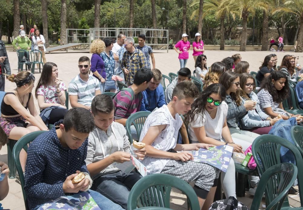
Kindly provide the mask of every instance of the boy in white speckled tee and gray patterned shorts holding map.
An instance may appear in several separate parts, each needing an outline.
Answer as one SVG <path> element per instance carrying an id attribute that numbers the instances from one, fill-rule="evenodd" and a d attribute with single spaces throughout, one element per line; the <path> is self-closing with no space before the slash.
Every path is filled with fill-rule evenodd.
<path id="1" fill-rule="evenodd" d="M 146 148 L 142 163 L 147 167 L 148 174 L 165 173 L 186 182 L 195 181 L 194 190 L 200 207 L 202 208 L 207 198 L 205 205 L 209 204 L 208 208 L 214 198 L 219 171 L 206 163 L 189 161 L 193 160 L 189 151 L 208 149 L 213 145 L 177 144 L 178 130 L 182 124 L 179 114 L 186 114 L 197 96 L 198 89 L 195 84 L 190 81 L 181 82 L 175 87 L 168 105 L 155 110 L 147 117 L 140 136 L 140 142 L 145 143 Z"/>

